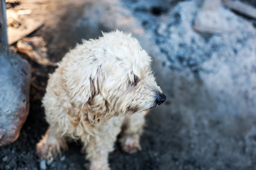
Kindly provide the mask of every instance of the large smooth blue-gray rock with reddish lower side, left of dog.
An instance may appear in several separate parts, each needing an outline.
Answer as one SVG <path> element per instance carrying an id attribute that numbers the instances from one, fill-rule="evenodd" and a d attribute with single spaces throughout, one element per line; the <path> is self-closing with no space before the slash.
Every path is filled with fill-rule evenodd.
<path id="1" fill-rule="evenodd" d="M 0 45 L 0 146 L 14 142 L 29 111 L 30 65 Z"/>

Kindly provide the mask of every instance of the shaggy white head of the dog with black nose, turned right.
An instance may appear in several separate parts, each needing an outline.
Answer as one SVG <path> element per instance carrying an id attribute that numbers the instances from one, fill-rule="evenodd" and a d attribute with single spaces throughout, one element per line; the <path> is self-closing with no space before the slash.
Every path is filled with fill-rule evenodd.
<path id="1" fill-rule="evenodd" d="M 67 58 L 64 80 L 70 98 L 94 115 L 90 121 L 147 111 L 166 99 L 150 70 L 151 58 L 131 34 L 104 33 L 83 41 Z"/>

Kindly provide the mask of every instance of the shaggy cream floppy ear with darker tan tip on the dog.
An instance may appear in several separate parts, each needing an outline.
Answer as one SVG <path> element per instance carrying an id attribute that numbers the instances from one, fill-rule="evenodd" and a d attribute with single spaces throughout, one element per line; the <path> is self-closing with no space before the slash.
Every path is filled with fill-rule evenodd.
<path id="1" fill-rule="evenodd" d="M 91 124 L 99 125 L 111 117 L 106 114 L 110 106 L 100 92 L 102 90 L 100 82 L 104 82 L 105 76 L 101 65 L 89 67 L 65 71 L 64 84 L 72 103 L 80 107 L 85 106 L 86 112 L 79 112 L 79 114 L 87 114 L 86 117 Z"/>

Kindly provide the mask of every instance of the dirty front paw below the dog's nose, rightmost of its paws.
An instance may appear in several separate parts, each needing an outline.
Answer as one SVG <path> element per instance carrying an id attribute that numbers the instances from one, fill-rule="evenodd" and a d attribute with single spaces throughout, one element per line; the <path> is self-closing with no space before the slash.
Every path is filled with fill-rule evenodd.
<path id="1" fill-rule="evenodd" d="M 128 152 L 129 154 L 132 154 L 137 150 L 141 150 L 138 135 L 127 135 L 122 137 L 120 142 L 123 151 Z"/>

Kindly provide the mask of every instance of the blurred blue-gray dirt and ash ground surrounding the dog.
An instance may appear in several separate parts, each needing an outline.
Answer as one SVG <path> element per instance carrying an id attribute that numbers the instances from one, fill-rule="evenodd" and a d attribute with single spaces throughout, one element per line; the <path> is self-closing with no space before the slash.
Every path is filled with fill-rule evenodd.
<path id="1" fill-rule="evenodd" d="M 116 28 L 132 32 L 153 58 L 167 100 L 146 117 L 142 151 L 128 155 L 116 146 L 112 169 L 256 169 L 255 20 L 221 7 L 228 31 L 202 35 L 192 28 L 200 1 L 44 3 L 45 10 L 26 8 L 45 20 L 31 36 L 44 37 L 51 61 L 60 61 L 82 38 Z M 19 139 L 0 148 L 0 169 L 40 169 L 35 145 L 48 126 L 40 100 L 54 67 L 30 63 L 30 114 Z M 82 169 L 84 157 L 79 143 L 70 143 L 47 167 Z"/>

